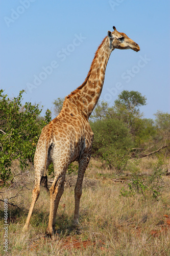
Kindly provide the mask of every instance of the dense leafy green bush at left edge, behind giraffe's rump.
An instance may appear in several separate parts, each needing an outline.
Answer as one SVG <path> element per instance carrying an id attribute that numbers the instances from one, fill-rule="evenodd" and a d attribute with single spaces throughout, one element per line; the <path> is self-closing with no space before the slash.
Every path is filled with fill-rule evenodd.
<path id="1" fill-rule="evenodd" d="M 10 177 L 12 160 L 18 159 L 21 169 L 33 163 L 42 127 L 51 120 L 49 110 L 46 119 L 37 120 L 42 111 L 39 104 L 26 102 L 22 106 L 23 92 L 9 99 L 0 91 L 0 177 L 4 182 Z"/>

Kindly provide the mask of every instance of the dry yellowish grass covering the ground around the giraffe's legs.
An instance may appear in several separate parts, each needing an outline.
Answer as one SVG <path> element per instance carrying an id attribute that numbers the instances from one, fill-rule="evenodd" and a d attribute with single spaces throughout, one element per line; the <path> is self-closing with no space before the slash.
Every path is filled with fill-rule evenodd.
<path id="1" fill-rule="evenodd" d="M 140 162 L 141 172 L 151 172 L 153 159 Z M 169 163 L 168 163 L 169 164 Z M 148 166 L 148 168 L 147 168 Z M 35 205 L 29 231 L 22 232 L 31 203 L 31 190 L 24 188 L 8 207 L 7 255 L 170 255 L 169 176 L 163 176 L 160 200 L 142 195 L 120 196 L 127 183 L 115 183 L 113 172 L 102 169 L 92 160 L 86 179 L 98 179 L 95 186 L 83 189 L 80 208 L 80 230 L 71 230 L 74 213 L 74 187 L 66 187 L 61 198 L 53 240 L 45 236 L 49 214 L 49 196 L 44 188 Z M 110 178 L 111 177 L 111 178 Z M 33 174 L 31 174 L 31 179 Z M 27 186 L 29 187 L 29 186 Z M 32 183 L 30 183 L 32 189 Z M 19 189 L 16 188 L 16 190 Z M 10 190 L 9 198 L 16 194 Z M 4 211 L 1 226 L 4 227 Z M 4 230 L 1 228 L 1 241 Z M 3 244 L 0 247 L 3 255 Z"/>

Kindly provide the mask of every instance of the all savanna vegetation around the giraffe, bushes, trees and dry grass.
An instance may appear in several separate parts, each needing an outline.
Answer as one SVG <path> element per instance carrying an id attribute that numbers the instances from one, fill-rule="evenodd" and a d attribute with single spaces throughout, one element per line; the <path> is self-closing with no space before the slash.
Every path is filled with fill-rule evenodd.
<path id="1" fill-rule="evenodd" d="M 66 174 L 53 240 L 45 236 L 50 200 L 41 188 L 29 231 L 22 232 L 34 186 L 33 158 L 42 127 L 51 121 L 42 106 L 22 104 L 21 91 L 8 98 L 0 91 L 1 241 L 8 222 L 7 255 L 169 255 L 170 254 L 170 114 L 146 119 L 147 99 L 123 91 L 110 106 L 99 102 L 91 117 L 92 158 L 86 170 L 80 229 L 71 229 L 77 163 Z M 62 98 L 54 101 L 57 115 Z M 48 186 L 53 166 L 48 169 Z M 8 218 L 5 205 L 8 200 Z M 6 215 L 7 216 L 7 215 Z"/>

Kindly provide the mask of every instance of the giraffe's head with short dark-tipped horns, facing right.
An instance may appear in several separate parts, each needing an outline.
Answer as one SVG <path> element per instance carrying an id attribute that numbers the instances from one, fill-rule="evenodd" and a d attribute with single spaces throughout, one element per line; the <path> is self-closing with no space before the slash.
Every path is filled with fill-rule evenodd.
<path id="1" fill-rule="evenodd" d="M 140 50 L 140 47 L 130 39 L 125 33 L 120 33 L 113 26 L 114 31 L 108 31 L 108 37 L 110 39 L 110 49 L 132 49 L 136 52 Z"/>

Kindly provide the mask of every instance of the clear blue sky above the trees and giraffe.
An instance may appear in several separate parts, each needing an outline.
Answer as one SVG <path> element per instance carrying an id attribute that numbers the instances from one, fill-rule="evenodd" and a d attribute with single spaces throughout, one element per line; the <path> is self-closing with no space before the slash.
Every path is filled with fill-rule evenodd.
<path id="1" fill-rule="evenodd" d="M 169 0 L 1 1 L 1 88 L 9 97 L 53 110 L 85 80 L 94 53 L 115 26 L 140 46 L 115 49 L 101 99 L 111 105 L 123 90 L 145 95 L 145 118 L 169 104 Z M 54 113 L 53 113 L 54 114 Z M 53 115 L 53 118 L 55 116 Z"/>

